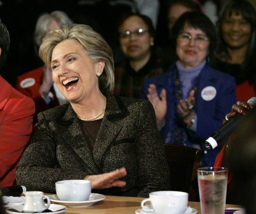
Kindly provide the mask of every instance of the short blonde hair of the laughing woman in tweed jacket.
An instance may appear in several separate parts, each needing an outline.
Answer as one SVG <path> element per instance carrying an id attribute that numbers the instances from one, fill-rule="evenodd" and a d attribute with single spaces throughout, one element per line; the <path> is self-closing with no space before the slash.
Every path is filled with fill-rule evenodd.
<path id="1" fill-rule="evenodd" d="M 112 92 L 115 84 L 112 49 L 105 39 L 88 25 L 74 24 L 50 31 L 42 39 L 42 44 L 39 48 L 39 56 L 42 61 L 46 65 L 50 65 L 53 49 L 66 39 L 78 41 L 94 63 L 105 62 L 104 71 L 99 77 L 99 88 L 103 94 Z"/>

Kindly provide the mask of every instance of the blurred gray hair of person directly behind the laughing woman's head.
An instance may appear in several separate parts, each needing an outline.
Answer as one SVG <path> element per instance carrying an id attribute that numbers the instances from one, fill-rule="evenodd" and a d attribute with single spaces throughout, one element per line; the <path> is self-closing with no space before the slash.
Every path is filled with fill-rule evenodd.
<path id="1" fill-rule="evenodd" d="M 38 51 L 38 48 L 41 45 L 42 38 L 46 35 L 48 32 L 48 26 L 55 21 L 58 23 L 58 25 L 61 27 L 63 25 L 72 25 L 73 22 L 69 18 L 69 16 L 62 11 L 55 10 L 53 12 L 49 13 L 43 13 L 39 16 L 37 19 L 36 25 L 35 25 L 35 32 L 34 32 L 34 42 L 35 42 L 35 49 Z"/>

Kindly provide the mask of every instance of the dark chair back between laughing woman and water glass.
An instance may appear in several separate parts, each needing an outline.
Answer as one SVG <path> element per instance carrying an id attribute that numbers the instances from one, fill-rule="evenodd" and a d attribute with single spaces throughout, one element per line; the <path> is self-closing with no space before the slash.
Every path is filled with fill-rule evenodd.
<path id="1" fill-rule="evenodd" d="M 189 201 L 199 201 L 197 169 L 202 151 L 167 143 L 164 150 L 170 170 L 170 190 L 188 192 Z"/>

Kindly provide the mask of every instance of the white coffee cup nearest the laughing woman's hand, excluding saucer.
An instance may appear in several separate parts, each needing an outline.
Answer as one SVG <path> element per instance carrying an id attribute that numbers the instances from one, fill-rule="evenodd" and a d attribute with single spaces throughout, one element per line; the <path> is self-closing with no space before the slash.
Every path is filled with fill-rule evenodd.
<path id="1" fill-rule="evenodd" d="M 91 181 L 86 180 L 57 181 L 55 187 L 61 201 L 87 201 L 92 191 Z"/>

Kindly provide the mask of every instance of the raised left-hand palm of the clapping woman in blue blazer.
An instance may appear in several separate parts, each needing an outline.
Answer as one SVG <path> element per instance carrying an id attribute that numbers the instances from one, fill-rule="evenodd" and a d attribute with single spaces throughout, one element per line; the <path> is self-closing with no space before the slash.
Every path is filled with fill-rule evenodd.
<path id="1" fill-rule="evenodd" d="M 162 125 L 167 111 L 166 91 L 163 89 L 159 97 L 156 85 L 150 84 L 148 87 L 147 99 L 150 100 L 154 107 L 157 125 Z"/>

